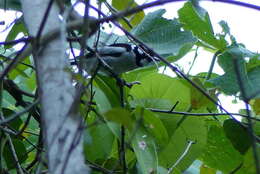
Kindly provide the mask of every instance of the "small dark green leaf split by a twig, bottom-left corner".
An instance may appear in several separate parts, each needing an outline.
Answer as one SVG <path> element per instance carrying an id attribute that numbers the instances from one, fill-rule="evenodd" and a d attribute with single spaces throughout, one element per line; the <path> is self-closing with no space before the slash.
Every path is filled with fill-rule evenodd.
<path id="1" fill-rule="evenodd" d="M 25 148 L 25 145 L 22 143 L 22 141 L 17 139 L 12 139 L 15 153 L 17 155 L 18 161 L 20 164 L 25 162 L 25 160 L 28 158 L 28 154 Z M 14 169 L 15 168 L 15 160 L 13 159 L 12 151 L 10 150 L 10 145 L 7 143 L 4 147 L 3 156 L 7 165 L 7 168 Z"/>

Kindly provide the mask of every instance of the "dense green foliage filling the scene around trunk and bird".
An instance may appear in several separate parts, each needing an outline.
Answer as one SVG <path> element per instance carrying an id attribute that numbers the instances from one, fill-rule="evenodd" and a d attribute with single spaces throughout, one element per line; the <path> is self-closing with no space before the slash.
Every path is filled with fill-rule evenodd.
<path id="1" fill-rule="evenodd" d="M 115 15 L 137 6 L 132 0 L 100 3 Z M 2 9 L 21 11 L 18 0 L 1 0 L 0 5 Z M 223 31 L 215 33 L 209 13 L 195 2 L 186 2 L 178 10 L 178 18 L 166 19 L 164 13 L 160 9 L 145 14 L 140 9 L 118 21 L 126 30 L 124 36 L 100 29 L 88 38 L 87 45 L 102 47 L 131 40 L 151 48 L 156 53 L 151 56 L 158 54 L 170 63 L 204 49 L 214 54 L 211 65 L 201 65 L 208 66 L 209 71 L 184 74 L 183 67 L 160 62 L 118 77 L 96 74 L 85 78 L 84 73 L 68 66 L 64 73 L 72 74 L 73 83 L 85 85 L 79 112 L 85 120 L 86 163 L 92 173 L 257 173 L 260 55 L 236 42 L 225 21 L 219 23 Z M 1 43 L 1 71 L 22 51 L 14 46 L 30 41 L 23 16 L 10 27 Z M 15 40 L 21 34 L 25 39 Z M 74 34 L 81 36 L 78 31 Z M 68 40 L 68 50 L 81 49 L 77 39 Z M 223 75 L 212 72 L 216 64 Z M 177 76 L 161 71 L 166 67 Z M 28 56 L 5 77 L 1 75 L 0 173 L 16 173 L 19 167 L 32 173 L 41 165 L 42 169 L 48 168 L 41 155 L 45 150 L 36 73 L 33 59 Z M 122 79 L 139 84 L 129 88 Z M 229 106 L 218 101 L 219 94 L 243 100 L 248 109 L 229 113 Z"/>

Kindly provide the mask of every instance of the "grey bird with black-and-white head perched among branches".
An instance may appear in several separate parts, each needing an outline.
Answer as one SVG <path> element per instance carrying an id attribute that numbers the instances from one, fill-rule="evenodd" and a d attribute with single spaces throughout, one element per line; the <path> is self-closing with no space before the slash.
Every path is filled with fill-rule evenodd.
<path id="1" fill-rule="evenodd" d="M 81 58 L 76 57 L 72 65 L 81 63 L 81 67 L 89 74 L 96 71 L 103 75 L 122 73 L 146 66 L 152 62 L 159 61 L 158 58 L 147 54 L 142 46 L 129 43 L 114 43 L 96 51 L 90 50 Z M 149 52 L 148 52 L 149 53 Z"/>

